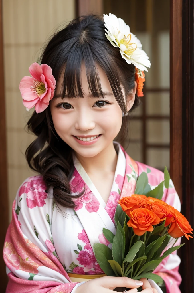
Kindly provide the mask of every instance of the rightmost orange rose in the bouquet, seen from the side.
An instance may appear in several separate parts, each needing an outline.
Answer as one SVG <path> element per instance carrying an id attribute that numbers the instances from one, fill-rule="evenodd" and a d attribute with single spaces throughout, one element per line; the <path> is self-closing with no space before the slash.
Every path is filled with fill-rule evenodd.
<path id="1" fill-rule="evenodd" d="M 174 221 L 171 223 L 170 228 L 168 229 L 168 234 L 173 238 L 178 238 L 185 236 L 188 240 L 193 238 L 188 233 L 193 234 L 193 229 L 191 228 L 186 217 L 183 216 L 177 209 L 170 207 L 170 210 L 174 216 Z"/>

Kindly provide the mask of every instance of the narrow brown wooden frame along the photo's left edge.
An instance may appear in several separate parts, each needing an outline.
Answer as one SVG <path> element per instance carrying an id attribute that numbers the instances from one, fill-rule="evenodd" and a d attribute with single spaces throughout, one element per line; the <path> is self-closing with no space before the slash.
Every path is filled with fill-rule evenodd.
<path id="1" fill-rule="evenodd" d="M 3 246 L 5 235 L 8 227 L 8 177 L 7 177 L 7 155 L 6 155 L 6 108 L 5 108 L 5 88 L 4 88 L 4 54 L 3 54 L 3 20 L 2 20 L 2 0 L 0 0 L 0 275 L 1 275 L 1 290 L 5 292 L 7 285 L 7 276 L 5 263 L 3 260 Z"/>

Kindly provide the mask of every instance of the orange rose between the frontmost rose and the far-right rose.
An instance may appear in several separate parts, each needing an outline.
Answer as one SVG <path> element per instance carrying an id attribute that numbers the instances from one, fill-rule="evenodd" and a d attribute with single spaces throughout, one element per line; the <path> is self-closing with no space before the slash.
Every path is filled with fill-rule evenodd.
<path id="1" fill-rule="evenodd" d="M 151 203 L 150 209 L 160 218 L 160 222 L 166 220 L 164 225 L 165 227 L 167 227 L 174 220 L 172 212 L 166 205 L 161 204 L 161 202 L 155 201 Z"/>

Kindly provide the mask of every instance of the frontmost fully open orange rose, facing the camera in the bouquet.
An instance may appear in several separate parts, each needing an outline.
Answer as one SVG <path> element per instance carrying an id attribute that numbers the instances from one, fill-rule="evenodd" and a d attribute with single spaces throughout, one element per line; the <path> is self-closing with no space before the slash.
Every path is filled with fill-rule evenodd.
<path id="1" fill-rule="evenodd" d="M 160 218 L 145 208 L 134 209 L 130 212 L 130 217 L 127 225 L 133 228 L 134 233 L 138 236 L 143 235 L 146 231 L 152 232 L 153 226 L 160 223 Z"/>

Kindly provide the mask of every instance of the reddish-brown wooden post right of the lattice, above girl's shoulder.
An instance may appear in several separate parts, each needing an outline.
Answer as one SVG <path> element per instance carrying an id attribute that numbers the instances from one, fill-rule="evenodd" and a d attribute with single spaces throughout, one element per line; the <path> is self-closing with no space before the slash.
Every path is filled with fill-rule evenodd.
<path id="1" fill-rule="evenodd" d="M 182 0 L 170 1 L 170 176 L 182 199 Z"/>

